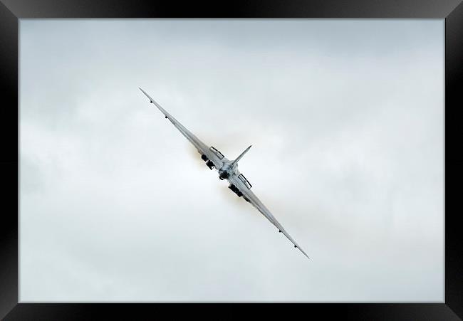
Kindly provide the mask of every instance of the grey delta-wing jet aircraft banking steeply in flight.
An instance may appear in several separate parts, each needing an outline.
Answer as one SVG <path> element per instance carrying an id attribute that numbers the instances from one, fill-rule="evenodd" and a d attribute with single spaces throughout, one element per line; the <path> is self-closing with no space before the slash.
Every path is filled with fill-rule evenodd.
<path id="1" fill-rule="evenodd" d="M 182 133 L 182 135 L 186 137 L 187 140 L 189 140 L 189 142 L 191 142 L 194 145 L 194 147 L 196 147 L 199 154 L 201 154 L 202 160 L 206 162 L 207 167 L 209 167 L 209 169 L 211 170 L 213 168 L 217 169 L 217 171 L 219 172 L 219 179 L 227 179 L 227 181 L 229 181 L 230 183 L 229 189 L 231 189 L 231 191 L 233 191 L 239 197 L 242 196 L 244 200 L 248 201 L 256 209 L 258 209 L 261 212 L 261 214 L 264 214 L 264 216 L 272 224 L 274 224 L 276 228 L 278 228 L 279 232 L 283 233 L 284 236 L 286 236 L 289 239 L 289 241 L 293 243 L 294 247 L 301 250 L 303 255 L 308 258 L 306 252 L 303 251 L 301 246 L 298 246 L 298 243 L 296 243 L 296 241 L 294 241 L 293 238 L 291 238 L 288 232 L 285 231 L 285 229 L 283 228 L 283 226 L 281 226 L 279 221 L 277 221 L 275 217 L 270 213 L 269 209 L 267 209 L 264 206 L 264 204 L 262 204 L 262 202 L 257 198 L 257 196 L 251 191 L 251 184 L 246 179 L 246 177 L 244 177 L 244 175 L 241 174 L 238 170 L 239 159 L 241 159 L 241 157 L 243 157 L 244 154 L 246 154 L 246 152 L 249 151 L 252 145 L 246 148 L 246 150 L 244 150 L 244 152 L 242 152 L 239 155 L 239 157 L 237 157 L 233 161 L 229 161 L 216 148 L 212 146 L 207 147 L 207 145 L 204 144 L 204 142 L 199 140 L 196 136 L 192 134 L 192 132 L 190 132 L 189 130 L 187 130 L 187 128 L 180 124 L 178 120 L 172 117 L 172 115 L 170 115 L 169 112 L 167 112 L 164 108 L 161 107 L 161 105 L 159 105 L 154 99 L 152 99 L 150 95 L 145 93 L 145 91 L 142 90 L 142 88 L 139 89 L 142 91 L 142 93 L 145 94 L 145 96 L 150 100 L 152 104 L 156 105 L 156 107 L 164 114 L 165 118 L 167 120 L 170 120 L 170 122 L 172 122 L 172 124 L 177 128 L 177 130 L 179 130 Z"/>

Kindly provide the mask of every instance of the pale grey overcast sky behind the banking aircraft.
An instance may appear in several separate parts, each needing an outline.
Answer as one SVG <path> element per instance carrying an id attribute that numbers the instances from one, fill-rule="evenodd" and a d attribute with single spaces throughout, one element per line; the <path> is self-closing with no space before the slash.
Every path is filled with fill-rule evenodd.
<path id="1" fill-rule="evenodd" d="M 444 20 L 20 21 L 20 300 L 444 300 Z M 239 162 L 293 248 L 138 90 Z"/>

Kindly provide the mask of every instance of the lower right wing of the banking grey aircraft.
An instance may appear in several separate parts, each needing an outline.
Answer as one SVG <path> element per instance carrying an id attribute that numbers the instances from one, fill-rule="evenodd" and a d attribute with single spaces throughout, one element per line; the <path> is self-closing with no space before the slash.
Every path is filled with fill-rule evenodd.
<path id="1" fill-rule="evenodd" d="M 239 191 L 241 191 L 241 193 L 243 194 L 243 197 L 244 197 L 244 199 L 246 201 L 249 201 L 249 203 L 251 203 L 256 209 L 258 209 L 259 212 L 261 212 L 261 214 L 264 214 L 264 216 L 272 224 L 274 224 L 274 226 L 276 226 L 276 228 L 278 228 L 279 231 L 281 231 L 281 233 L 283 233 L 284 236 L 286 236 L 288 238 L 288 240 L 291 241 L 291 243 L 294 244 L 294 246 L 296 246 L 299 250 L 301 250 L 301 252 L 303 253 L 304 256 L 307 256 L 306 252 L 304 252 L 303 249 L 301 248 L 301 246 L 298 246 L 298 243 L 296 243 L 296 241 L 294 241 L 294 239 L 291 238 L 289 233 L 286 232 L 286 230 L 283 228 L 283 226 L 281 226 L 279 221 L 277 221 L 275 219 L 275 217 L 271 214 L 269 209 L 267 209 L 264 206 L 264 204 L 262 204 L 262 202 L 257 198 L 257 196 L 251 191 L 251 189 L 249 189 L 249 187 L 244 182 L 244 181 L 246 181 L 246 179 L 242 179 L 242 177 L 240 178 L 240 175 L 241 174 L 238 171 L 236 171 L 236 174 L 231 175 L 228 178 L 228 181 L 231 184 L 234 184 L 234 186 L 236 186 L 236 188 L 239 189 Z M 307 256 L 307 258 L 309 258 L 309 257 Z"/>

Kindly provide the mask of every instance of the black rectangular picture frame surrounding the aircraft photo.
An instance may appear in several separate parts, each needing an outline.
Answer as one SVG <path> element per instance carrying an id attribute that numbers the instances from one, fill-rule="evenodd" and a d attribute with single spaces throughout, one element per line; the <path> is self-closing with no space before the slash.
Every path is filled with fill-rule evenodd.
<path id="1" fill-rule="evenodd" d="M 459 154 L 459 122 L 455 114 L 463 104 L 463 4 L 461 0 L 350 0 L 350 1 L 146 1 L 146 0 L 0 0 L 1 64 L 1 203 L 0 223 L 0 317 L 4 320 L 99 320 L 154 319 L 160 312 L 170 317 L 195 312 L 198 305 L 159 303 L 19 303 L 19 102 L 18 26 L 23 18 L 412 18 L 445 19 L 445 300 L 442 303 L 335 303 L 306 304 L 306 317 L 321 312 L 325 317 L 351 320 L 461 320 L 463 317 L 463 261 L 459 243 L 457 201 L 462 195 L 463 157 Z M 451 115 L 451 117 L 449 117 Z M 16 135 L 14 135 L 16 133 Z M 449 143 L 456 140 L 455 144 Z M 201 306 L 201 305 L 200 305 Z M 226 304 L 209 305 L 198 317 L 231 317 Z M 294 305 L 266 305 L 274 317 L 287 317 Z M 298 305 L 300 307 L 300 305 Z M 217 309 L 214 309 L 217 310 Z M 204 315 L 205 314 L 205 315 Z M 134 315 L 138 315 L 136 318 Z M 144 316 L 144 317 L 143 317 Z M 242 313 L 236 317 L 244 317 Z M 294 314 L 294 317 L 298 317 Z"/>

